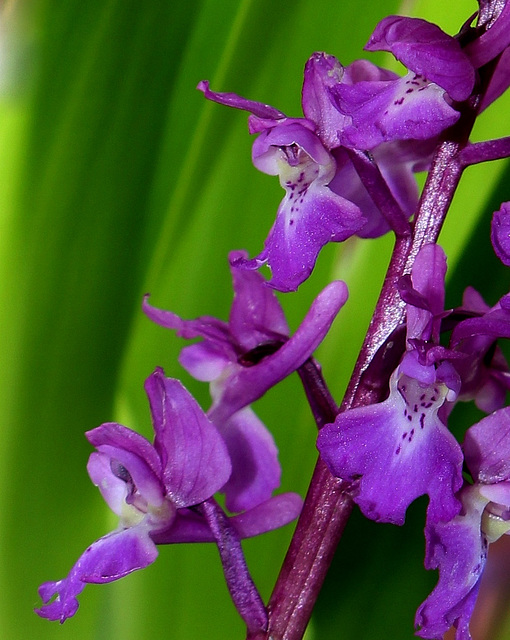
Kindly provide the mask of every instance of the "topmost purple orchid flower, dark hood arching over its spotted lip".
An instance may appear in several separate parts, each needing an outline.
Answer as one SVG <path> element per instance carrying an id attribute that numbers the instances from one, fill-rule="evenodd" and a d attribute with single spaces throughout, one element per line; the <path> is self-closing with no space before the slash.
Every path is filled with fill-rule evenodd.
<path id="1" fill-rule="evenodd" d="M 336 106 L 351 121 L 341 131 L 342 145 L 373 149 L 394 140 L 434 139 L 458 120 L 450 103 L 470 96 L 475 71 L 457 40 L 425 20 L 388 16 L 365 49 L 390 51 L 409 73 L 331 87 Z"/>

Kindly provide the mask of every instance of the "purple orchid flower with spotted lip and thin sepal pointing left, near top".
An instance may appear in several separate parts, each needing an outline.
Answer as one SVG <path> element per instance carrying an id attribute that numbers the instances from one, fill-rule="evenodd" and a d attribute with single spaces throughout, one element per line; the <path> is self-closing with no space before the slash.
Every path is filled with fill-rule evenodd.
<path id="1" fill-rule="evenodd" d="M 336 58 L 314 54 L 305 66 L 302 105 L 305 118 L 292 119 L 268 105 L 231 93 L 217 93 L 207 82 L 198 88 L 215 102 L 249 110 L 250 133 L 260 133 L 253 145 L 255 166 L 278 175 L 285 197 L 264 250 L 238 266 L 257 269 L 268 264 L 270 286 L 293 291 L 310 275 L 321 248 L 352 235 L 378 237 L 389 230 L 348 155 L 340 148 L 342 131 L 352 118 L 341 114 L 331 96 L 339 83 L 353 85 L 394 81 L 390 71 L 358 60 L 342 67 Z M 398 205 L 409 217 L 418 201 L 414 171 L 428 164 L 432 146 L 416 143 L 380 145 L 373 159 Z"/>

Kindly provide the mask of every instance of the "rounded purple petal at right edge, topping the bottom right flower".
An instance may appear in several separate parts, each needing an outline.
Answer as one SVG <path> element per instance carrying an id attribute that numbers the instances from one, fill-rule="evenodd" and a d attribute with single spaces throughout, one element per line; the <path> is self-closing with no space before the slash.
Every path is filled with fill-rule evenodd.
<path id="1" fill-rule="evenodd" d="M 485 484 L 510 479 L 510 407 L 482 418 L 466 431 L 466 462 L 473 477 Z"/>

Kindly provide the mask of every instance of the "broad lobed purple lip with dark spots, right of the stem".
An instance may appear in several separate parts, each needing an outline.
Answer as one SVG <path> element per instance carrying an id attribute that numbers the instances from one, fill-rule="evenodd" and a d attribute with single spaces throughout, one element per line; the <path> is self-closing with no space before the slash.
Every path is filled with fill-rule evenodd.
<path id="1" fill-rule="evenodd" d="M 319 433 L 317 447 L 331 472 L 357 482 L 354 501 L 380 522 L 403 524 L 407 507 L 428 494 L 430 521 L 459 510 L 462 451 L 439 419 L 448 388 L 393 374 L 380 404 L 338 415 Z"/>

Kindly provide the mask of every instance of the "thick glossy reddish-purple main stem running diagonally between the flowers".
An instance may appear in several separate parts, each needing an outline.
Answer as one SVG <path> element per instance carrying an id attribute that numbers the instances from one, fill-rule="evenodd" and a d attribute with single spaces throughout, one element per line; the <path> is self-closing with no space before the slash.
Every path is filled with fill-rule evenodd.
<path id="1" fill-rule="evenodd" d="M 501 3 L 487 2 L 486 5 L 492 5 L 493 16 L 501 11 Z M 491 73 L 491 65 L 480 70 L 480 86 L 483 90 L 488 86 Z M 459 121 L 446 132 L 446 139 L 438 145 L 410 235 L 406 232 L 401 214 L 394 203 L 391 200 L 386 202 L 385 211 L 396 232 L 395 246 L 340 411 L 380 400 L 380 386 L 374 383 L 373 376 L 364 374 L 379 349 L 387 347 L 386 343 L 392 333 L 404 322 L 404 303 L 398 294 L 397 282 L 400 277 L 410 273 L 420 248 L 437 241 L 463 169 L 469 164 L 509 154 L 508 138 L 476 145 L 468 143 L 482 95 L 483 92 L 462 105 Z M 359 154 L 355 160 L 362 179 L 366 177 L 362 174 L 368 172 L 369 178 L 378 182 L 373 168 L 363 162 Z M 374 185 L 372 191 L 380 193 L 375 182 Z M 326 409 L 321 415 L 322 401 L 317 400 L 317 395 L 320 396 L 320 390 L 314 394 L 307 389 L 307 396 L 312 398 L 310 404 L 314 417 L 321 427 L 331 421 L 331 406 L 326 399 Z M 348 485 L 334 478 L 319 459 L 268 604 L 268 630 L 249 633 L 248 640 L 301 640 L 352 507 Z"/>

